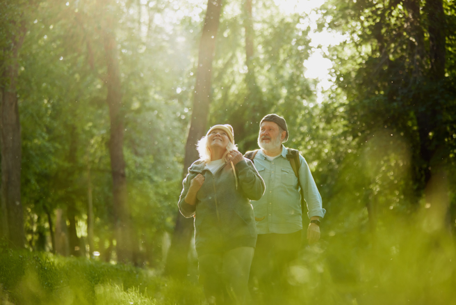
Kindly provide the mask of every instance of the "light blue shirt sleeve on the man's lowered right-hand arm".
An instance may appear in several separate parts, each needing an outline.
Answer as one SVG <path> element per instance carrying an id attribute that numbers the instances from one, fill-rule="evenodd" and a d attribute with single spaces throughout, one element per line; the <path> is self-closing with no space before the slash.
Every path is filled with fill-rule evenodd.
<path id="1" fill-rule="evenodd" d="M 314 216 L 323 218 L 325 217 L 326 210 L 322 206 L 320 192 L 318 191 L 314 177 L 312 177 L 312 173 L 310 172 L 309 164 L 307 164 L 306 159 L 304 159 L 302 155 L 300 155 L 300 160 L 300 187 L 307 203 L 307 210 L 309 211 L 307 212 L 307 216 L 309 216 L 309 218 Z"/>

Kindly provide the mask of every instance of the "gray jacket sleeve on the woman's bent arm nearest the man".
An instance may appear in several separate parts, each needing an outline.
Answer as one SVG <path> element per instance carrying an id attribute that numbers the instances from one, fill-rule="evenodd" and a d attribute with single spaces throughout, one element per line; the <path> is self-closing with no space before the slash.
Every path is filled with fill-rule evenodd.
<path id="1" fill-rule="evenodd" d="M 266 189 L 263 178 L 259 175 L 252 161 L 244 158 L 243 161 L 236 164 L 238 171 L 239 185 L 245 196 L 250 200 L 257 201 L 263 196 Z"/>

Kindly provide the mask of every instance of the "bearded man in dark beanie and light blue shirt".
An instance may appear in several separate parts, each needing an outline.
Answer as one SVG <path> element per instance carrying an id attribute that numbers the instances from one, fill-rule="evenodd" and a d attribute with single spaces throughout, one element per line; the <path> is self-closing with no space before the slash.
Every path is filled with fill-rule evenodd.
<path id="1" fill-rule="evenodd" d="M 320 219 L 325 216 L 321 196 L 309 166 L 298 150 L 286 148 L 288 127 L 284 118 L 268 114 L 260 123 L 260 150 L 245 154 L 266 184 L 259 201 L 252 201 L 258 239 L 252 263 L 252 281 L 268 294 L 286 287 L 288 264 L 298 256 L 302 233 L 302 199 L 311 219 L 307 240 L 320 239 Z M 303 197 L 303 198 L 301 198 Z"/>

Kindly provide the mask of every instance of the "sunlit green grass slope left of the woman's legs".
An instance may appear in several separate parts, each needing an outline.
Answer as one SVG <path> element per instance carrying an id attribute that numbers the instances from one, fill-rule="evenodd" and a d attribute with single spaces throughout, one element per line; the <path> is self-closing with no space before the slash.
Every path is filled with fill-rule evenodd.
<path id="1" fill-rule="evenodd" d="M 1 304 L 201 304 L 201 288 L 130 265 L 5 250 Z"/>

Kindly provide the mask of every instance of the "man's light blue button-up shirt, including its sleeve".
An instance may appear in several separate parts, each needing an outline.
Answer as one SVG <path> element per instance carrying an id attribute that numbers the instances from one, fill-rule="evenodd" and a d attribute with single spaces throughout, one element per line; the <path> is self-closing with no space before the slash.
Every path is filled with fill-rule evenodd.
<path id="1" fill-rule="evenodd" d="M 300 191 L 302 188 L 307 203 L 307 215 L 324 217 L 321 196 L 318 192 L 309 165 L 300 155 L 300 183 L 290 161 L 286 159 L 288 150 L 282 146 L 282 154 L 270 161 L 259 150 L 254 157 L 254 165 L 266 184 L 266 191 L 259 201 L 252 201 L 258 234 L 294 233 L 302 229 Z"/>

